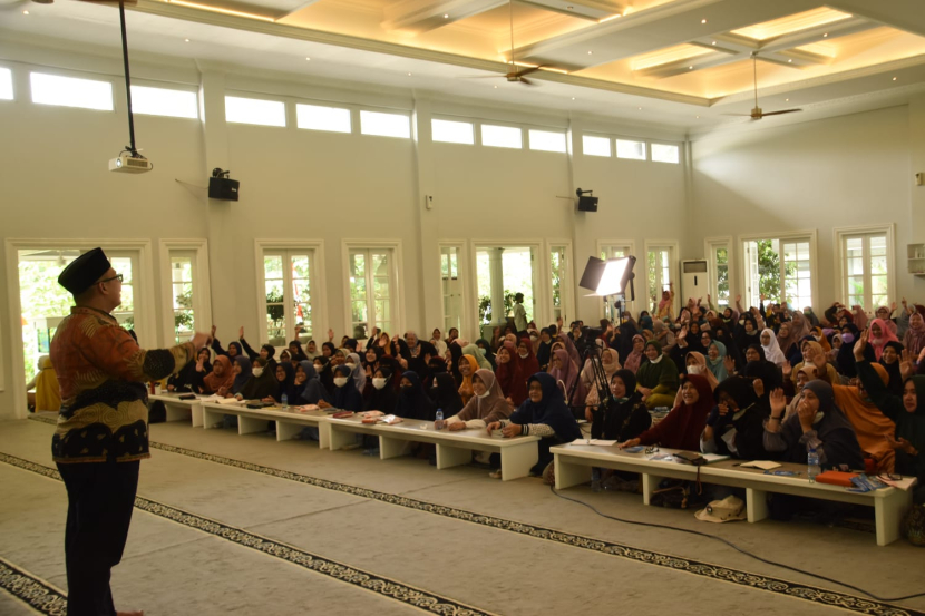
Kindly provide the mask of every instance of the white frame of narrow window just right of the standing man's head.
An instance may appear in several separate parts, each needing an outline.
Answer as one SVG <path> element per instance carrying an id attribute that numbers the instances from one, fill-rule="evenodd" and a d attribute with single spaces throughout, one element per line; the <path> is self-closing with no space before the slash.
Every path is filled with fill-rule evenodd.
<path id="1" fill-rule="evenodd" d="M 174 335 L 174 294 L 171 274 L 172 253 L 193 254 L 193 314 L 196 316 L 195 331 L 205 332 L 205 323 L 213 322 L 212 285 L 208 277 L 207 239 L 162 239 L 160 255 L 160 310 L 163 315 L 162 340 L 166 348 L 176 344 Z M 211 325 L 210 325 L 211 326 Z"/>

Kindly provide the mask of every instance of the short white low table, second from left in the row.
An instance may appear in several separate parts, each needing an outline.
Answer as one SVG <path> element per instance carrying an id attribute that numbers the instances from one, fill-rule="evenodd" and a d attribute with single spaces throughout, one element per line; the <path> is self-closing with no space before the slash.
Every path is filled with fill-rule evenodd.
<path id="1" fill-rule="evenodd" d="M 237 417 L 237 433 L 252 434 L 265 432 L 266 422 L 276 423 L 276 440 L 288 441 L 302 431 L 302 428 L 312 427 L 319 430 L 319 447 L 328 449 L 327 428 L 328 413 L 324 411 L 299 411 L 295 407 L 283 410 L 281 407 L 265 407 L 263 409 L 249 409 L 245 404 L 218 404 L 217 402 L 203 402 L 203 426 L 206 430 L 212 429 L 215 423 L 223 421 L 226 414 Z"/>

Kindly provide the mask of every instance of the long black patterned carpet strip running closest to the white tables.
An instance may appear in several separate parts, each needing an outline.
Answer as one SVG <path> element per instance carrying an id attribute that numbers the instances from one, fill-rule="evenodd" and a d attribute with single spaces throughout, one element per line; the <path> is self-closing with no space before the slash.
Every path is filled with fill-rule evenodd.
<path id="1" fill-rule="evenodd" d="M 31 415 L 30 419 L 43 423 L 55 423 L 55 419 L 51 417 Z M 398 507 L 405 507 L 417 511 L 423 511 L 437 516 L 454 518 L 463 521 L 478 524 L 481 526 L 488 526 L 508 532 L 526 535 L 528 537 L 537 539 L 545 539 L 556 544 L 564 544 L 572 547 L 597 551 L 606 554 L 608 556 L 615 556 L 623 559 L 644 563 L 646 565 L 653 565 L 675 571 L 684 571 L 688 574 L 702 576 L 719 581 L 736 584 L 738 586 L 747 586 L 749 588 L 765 590 L 777 595 L 783 595 L 802 600 L 808 600 L 815 604 L 826 605 L 840 609 L 847 609 L 858 614 L 870 614 L 878 616 L 925 616 L 925 612 L 919 612 L 912 608 L 904 608 L 884 602 L 866 599 L 845 593 L 827 590 L 825 588 L 818 588 L 806 584 L 799 584 L 760 574 L 740 571 L 722 567 L 720 565 L 702 563 L 698 560 L 682 558 L 679 556 L 639 549 L 632 546 L 625 546 L 612 541 L 605 541 L 601 539 L 594 539 L 591 537 L 584 537 L 581 535 L 563 532 L 549 528 L 544 528 L 541 526 L 534 526 L 514 520 L 507 520 L 504 518 L 486 516 L 473 511 L 466 511 L 464 509 L 457 509 L 454 507 L 446 507 L 442 505 L 428 502 L 425 500 L 417 500 L 400 495 L 380 492 L 368 488 L 360 488 L 357 486 L 350 486 L 337 481 L 329 481 L 327 479 L 320 479 L 317 477 L 301 475 L 288 470 L 274 469 L 272 467 L 256 465 L 253 462 L 245 462 L 243 460 L 235 460 L 233 458 L 226 458 L 213 453 L 205 453 L 202 451 L 186 449 L 183 447 L 176 447 L 173 444 L 152 442 L 150 447 L 152 449 L 159 449 L 162 451 L 169 453 L 177 453 L 179 456 L 186 456 L 198 460 L 220 463 L 241 470 L 259 472 L 270 477 L 276 477 L 279 479 L 295 481 L 298 483 L 304 483 L 315 488 L 322 488 L 325 490 L 348 493 L 351 496 L 357 496 L 370 500 L 378 500 L 380 502 L 386 502 Z"/>

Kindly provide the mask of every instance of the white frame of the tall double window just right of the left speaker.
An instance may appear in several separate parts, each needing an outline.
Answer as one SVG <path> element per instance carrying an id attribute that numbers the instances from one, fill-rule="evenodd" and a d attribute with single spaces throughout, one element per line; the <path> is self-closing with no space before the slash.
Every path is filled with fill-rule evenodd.
<path id="1" fill-rule="evenodd" d="M 266 344 L 270 342 L 270 336 L 266 333 L 266 273 L 264 271 L 264 256 L 273 253 L 301 253 L 308 254 L 311 258 L 309 262 L 309 284 L 311 285 L 311 309 L 312 309 L 312 336 L 318 336 L 319 332 L 324 327 L 327 320 L 327 286 L 324 283 L 324 241 L 323 239 L 255 239 L 254 241 L 254 264 L 256 273 L 256 331 L 260 332 L 260 343 Z M 283 270 L 283 281 L 285 285 L 285 270 Z M 289 280 L 291 283 L 291 278 Z M 291 340 L 290 334 L 295 331 L 294 309 L 289 302 L 284 304 L 284 324 L 283 332 L 286 341 Z M 290 319 L 292 321 L 290 321 Z M 318 339 L 317 339 L 318 340 Z M 324 339 L 327 340 L 327 338 Z M 251 344 L 253 346 L 253 343 Z"/>

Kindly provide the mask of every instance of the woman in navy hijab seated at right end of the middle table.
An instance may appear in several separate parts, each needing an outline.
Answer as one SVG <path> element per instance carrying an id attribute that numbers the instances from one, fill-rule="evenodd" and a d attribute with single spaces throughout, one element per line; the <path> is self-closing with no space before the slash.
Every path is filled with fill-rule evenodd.
<path id="1" fill-rule="evenodd" d="M 508 419 L 490 422 L 486 430 L 490 434 L 500 429 L 506 439 L 519 434 L 541 437 L 539 459 L 530 469 L 530 476 L 542 476 L 546 483 L 552 485 L 553 453 L 549 448 L 582 438 L 582 431 L 551 374 L 537 372 L 530 377 L 527 392 L 529 397 L 520 408 Z M 495 471 L 491 476 L 500 479 L 500 471 Z"/>

